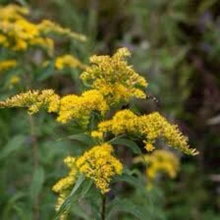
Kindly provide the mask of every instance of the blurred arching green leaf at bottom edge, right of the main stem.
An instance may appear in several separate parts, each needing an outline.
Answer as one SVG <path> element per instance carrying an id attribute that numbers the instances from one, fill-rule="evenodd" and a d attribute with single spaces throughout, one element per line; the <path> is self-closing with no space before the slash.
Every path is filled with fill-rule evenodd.
<path id="1" fill-rule="evenodd" d="M 111 206 L 109 207 L 110 211 L 107 214 L 106 220 L 111 220 L 114 218 L 116 213 L 124 212 L 129 213 L 135 216 L 139 220 L 150 220 L 147 216 L 148 214 L 141 210 L 140 206 L 133 204 L 128 199 L 115 199 Z"/>

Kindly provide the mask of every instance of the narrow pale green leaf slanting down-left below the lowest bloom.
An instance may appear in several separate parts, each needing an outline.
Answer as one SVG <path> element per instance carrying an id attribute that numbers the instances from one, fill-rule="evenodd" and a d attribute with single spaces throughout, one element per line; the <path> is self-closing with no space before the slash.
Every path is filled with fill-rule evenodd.
<path id="1" fill-rule="evenodd" d="M 65 215 L 67 215 L 71 209 L 71 206 L 73 205 L 74 202 L 76 202 L 77 200 L 74 200 L 75 197 L 75 193 L 77 192 L 77 190 L 79 189 L 79 187 L 82 185 L 83 181 L 85 180 L 85 176 L 84 175 L 80 175 L 80 177 L 78 178 L 76 184 L 74 185 L 70 195 L 66 198 L 66 200 L 64 201 L 64 203 L 62 204 L 62 206 L 60 207 L 60 209 L 58 210 L 58 212 L 55 215 L 55 220 L 59 220 L 60 217 L 65 213 Z"/>

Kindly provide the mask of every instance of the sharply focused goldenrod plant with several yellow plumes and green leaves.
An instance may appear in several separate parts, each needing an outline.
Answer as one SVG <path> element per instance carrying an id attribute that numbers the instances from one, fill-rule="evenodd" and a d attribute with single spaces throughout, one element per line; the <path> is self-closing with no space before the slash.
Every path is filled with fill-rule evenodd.
<path id="1" fill-rule="evenodd" d="M 80 75 L 85 88 L 81 95 L 61 96 L 52 89 L 29 90 L 0 102 L 1 108 L 24 107 L 31 115 L 45 109 L 56 117 L 60 126 L 69 127 L 70 131 L 71 127 L 75 128 L 69 138 L 84 143 L 78 154 L 70 151 L 64 159 L 69 168 L 67 176 L 51 185 L 58 194 L 56 219 L 68 219 L 69 213 L 73 217 L 76 212 L 73 214 L 72 210 L 80 205 L 86 210 L 84 219 L 113 219 L 118 215 L 115 208 L 120 212 L 125 206 L 135 218 L 148 219 L 143 210 L 130 203 L 119 206 L 118 200 L 110 197 L 110 193 L 117 190 L 116 199 L 122 199 L 123 182 L 133 182 L 135 187 L 144 185 L 136 184 L 133 159 L 138 154 L 139 159 L 149 164 L 147 176 L 152 184 L 158 171 L 175 177 L 179 167 L 173 154 L 158 149 L 159 139 L 184 154 L 198 154 L 196 149 L 190 148 L 179 128 L 159 112 L 140 114 L 129 107 L 134 100 L 147 98 L 148 86 L 145 78 L 128 64 L 129 56 L 127 48 L 118 49 L 112 56 L 92 56 Z M 123 106 L 128 107 L 123 109 Z M 77 144 L 72 147 L 79 148 Z M 131 163 L 123 158 L 123 152 L 129 149 L 132 150 Z M 85 203 L 81 204 L 83 200 Z"/>

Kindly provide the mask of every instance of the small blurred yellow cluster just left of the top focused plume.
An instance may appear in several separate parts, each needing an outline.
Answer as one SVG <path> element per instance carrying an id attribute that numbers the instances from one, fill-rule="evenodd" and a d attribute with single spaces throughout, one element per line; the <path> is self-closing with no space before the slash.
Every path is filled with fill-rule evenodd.
<path id="1" fill-rule="evenodd" d="M 80 68 L 85 69 L 85 65 L 80 62 L 73 55 L 67 54 L 56 58 L 55 67 L 58 70 L 62 70 L 64 68 Z"/>

